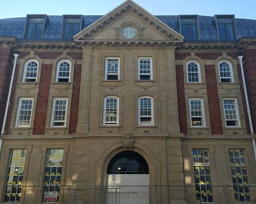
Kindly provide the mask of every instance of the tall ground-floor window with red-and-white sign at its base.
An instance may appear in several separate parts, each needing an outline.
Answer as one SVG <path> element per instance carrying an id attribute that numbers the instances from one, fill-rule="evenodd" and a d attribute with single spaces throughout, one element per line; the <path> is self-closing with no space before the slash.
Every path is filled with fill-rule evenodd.
<path id="1" fill-rule="evenodd" d="M 63 149 L 48 149 L 42 192 L 43 203 L 59 201 L 62 164 Z"/>

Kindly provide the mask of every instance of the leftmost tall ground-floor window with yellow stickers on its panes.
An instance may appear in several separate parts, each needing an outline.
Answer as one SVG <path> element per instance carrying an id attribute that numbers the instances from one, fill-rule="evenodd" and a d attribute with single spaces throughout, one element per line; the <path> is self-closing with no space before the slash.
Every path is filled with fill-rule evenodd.
<path id="1" fill-rule="evenodd" d="M 19 203 L 26 162 L 26 149 L 12 149 L 4 192 L 4 203 Z"/>

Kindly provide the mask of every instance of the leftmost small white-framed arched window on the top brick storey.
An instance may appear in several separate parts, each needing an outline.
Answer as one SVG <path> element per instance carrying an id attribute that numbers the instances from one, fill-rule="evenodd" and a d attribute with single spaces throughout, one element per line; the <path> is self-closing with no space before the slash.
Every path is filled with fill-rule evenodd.
<path id="1" fill-rule="evenodd" d="M 25 63 L 22 82 L 36 82 L 38 61 L 31 59 Z"/>

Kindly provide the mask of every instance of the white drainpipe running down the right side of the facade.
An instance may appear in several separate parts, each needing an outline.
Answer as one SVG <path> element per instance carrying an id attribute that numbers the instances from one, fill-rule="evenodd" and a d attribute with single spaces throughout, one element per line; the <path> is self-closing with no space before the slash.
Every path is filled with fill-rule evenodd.
<path id="1" fill-rule="evenodd" d="M 244 87 L 244 96 L 245 96 L 245 101 L 246 101 L 246 108 L 247 108 L 247 114 L 248 114 L 248 119 L 249 119 L 249 124 L 250 124 L 250 131 L 251 135 L 253 136 L 253 126 L 252 126 L 252 116 L 251 116 L 251 111 L 250 111 L 250 106 L 249 106 L 249 101 L 248 101 L 248 94 L 247 94 L 247 89 L 246 89 L 246 84 L 244 80 L 244 68 L 243 68 L 243 56 L 239 55 L 237 57 L 239 59 L 240 63 L 240 68 L 241 68 L 241 73 L 242 73 L 242 80 L 243 80 L 243 87 Z M 255 145 L 255 139 L 252 139 L 252 145 L 253 145 L 253 152 L 254 152 L 254 159 L 255 159 L 255 165 L 256 165 L 256 145 Z"/>

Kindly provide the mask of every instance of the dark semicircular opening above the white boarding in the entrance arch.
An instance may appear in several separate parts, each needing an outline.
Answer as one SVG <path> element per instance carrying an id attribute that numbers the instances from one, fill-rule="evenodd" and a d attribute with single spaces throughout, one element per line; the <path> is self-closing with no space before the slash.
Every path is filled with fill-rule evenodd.
<path id="1" fill-rule="evenodd" d="M 108 174 L 148 174 L 147 161 L 137 152 L 116 154 L 108 165 Z"/>

